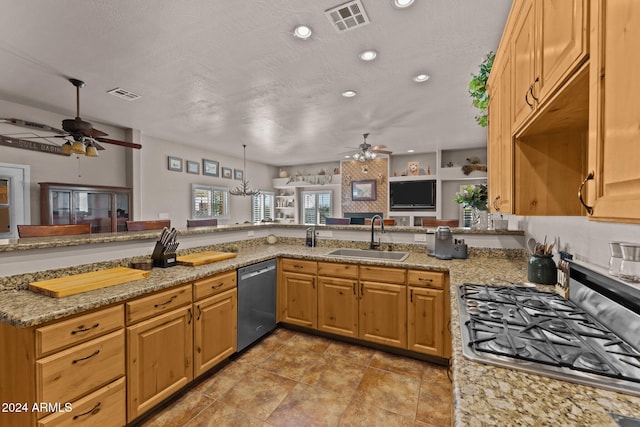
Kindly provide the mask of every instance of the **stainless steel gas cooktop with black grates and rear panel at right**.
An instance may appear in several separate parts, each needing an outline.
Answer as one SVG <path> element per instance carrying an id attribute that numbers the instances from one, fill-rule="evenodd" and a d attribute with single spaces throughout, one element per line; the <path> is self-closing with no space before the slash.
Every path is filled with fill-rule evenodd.
<path id="1" fill-rule="evenodd" d="M 570 262 L 570 299 L 534 287 L 458 290 L 469 359 L 640 396 L 640 289 Z"/>

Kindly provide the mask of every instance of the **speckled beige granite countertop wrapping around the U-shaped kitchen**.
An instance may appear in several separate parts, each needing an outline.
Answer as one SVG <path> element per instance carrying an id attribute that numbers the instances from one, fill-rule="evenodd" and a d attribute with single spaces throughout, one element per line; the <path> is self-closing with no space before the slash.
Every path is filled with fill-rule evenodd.
<path id="1" fill-rule="evenodd" d="M 513 281 L 523 280 L 526 276 L 526 259 L 521 249 L 474 249 L 470 251 L 470 257 L 467 260 L 443 261 L 426 255 L 423 246 L 413 245 L 414 251 L 411 252 L 405 262 L 401 263 L 336 259 L 326 255 L 327 252 L 337 247 L 354 245 L 354 243 L 349 243 L 346 240 L 347 236 L 351 236 L 350 233 L 359 232 L 367 235 L 368 227 L 361 228 L 362 230 L 355 231 L 352 228 L 343 230 L 340 227 L 327 227 L 323 230 L 334 232 L 333 239 L 321 238 L 319 240 L 319 245 L 321 246 L 315 248 L 303 245 L 304 228 L 300 226 L 240 225 L 230 226 L 227 229 L 190 230 L 179 237 L 179 240 L 185 243 L 191 241 L 190 245 L 192 244 L 193 246 L 187 248 L 186 251 L 208 250 L 208 248 L 204 248 L 206 245 L 201 243 L 202 241 L 209 241 L 213 242 L 209 243 L 209 245 L 213 245 L 219 250 L 237 250 L 237 257 L 200 267 L 154 268 L 150 277 L 146 280 L 60 299 L 37 295 L 25 290 L 28 280 L 55 277 L 63 274 L 60 271 L 3 277 L 0 279 L 0 283 L 4 287 L 1 291 L 3 298 L 0 302 L 0 322 L 3 323 L 4 328 L 34 327 L 35 325 L 45 324 L 54 319 L 61 319 L 72 314 L 95 311 L 100 307 L 110 306 L 145 294 L 175 289 L 176 286 L 187 282 L 235 270 L 245 265 L 275 257 L 448 272 L 450 275 L 449 291 L 451 294 L 450 331 L 452 335 L 454 418 L 456 425 L 615 426 L 608 414 L 609 411 L 627 416 L 637 415 L 635 411 L 640 407 L 640 398 L 638 397 L 483 365 L 464 359 L 460 351 L 460 329 L 455 300 L 457 286 L 465 282 L 486 283 L 490 278 L 496 276 Z M 253 236 L 247 239 L 250 232 L 253 232 Z M 401 228 L 397 230 L 397 234 L 402 232 Z M 278 236 L 278 243 L 267 244 L 266 236 L 271 233 Z M 346 233 L 344 234 L 345 240 L 336 240 L 341 233 Z M 413 234 L 415 233 L 415 228 L 412 228 L 411 232 L 407 232 L 408 237 L 406 240 L 409 238 L 413 240 Z M 521 232 L 499 233 L 501 237 L 507 239 L 523 239 Z M 470 238 L 473 234 L 467 233 L 464 237 Z M 236 241 L 227 240 L 223 238 L 224 235 L 227 237 L 236 236 L 234 237 Z M 243 235 L 243 240 L 238 239 L 238 235 Z M 129 246 L 125 250 L 116 250 L 116 252 L 122 254 L 137 248 L 140 244 L 151 248 L 157 236 L 157 232 L 122 233 L 110 237 L 92 236 L 86 238 L 88 240 L 85 241 L 82 241 L 82 239 L 75 241 L 53 239 L 48 243 L 45 239 L 33 239 L 29 242 L 23 240 L 13 245 L 6 245 L 0 250 L 3 251 L 3 257 L 11 255 L 19 258 L 21 256 L 29 256 L 30 253 L 39 254 L 42 251 L 54 249 L 47 249 L 47 246 L 54 246 L 57 249 L 66 248 L 72 251 L 77 251 L 78 249 L 97 251 L 98 247 L 103 246 L 104 250 L 110 252 L 114 251 L 113 245 L 122 243 L 124 247 Z M 495 238 L 495 235 L 492 238 Z M 215 240 L 221 243 L 216 243 L 214 242 Z M 363 240 L 366 240 L 366 237 Z M 394 250 L 396 250 L 396 247 L 404 250 L 405 247 L 409 246 L 407 244 L 402 246 L 403 244 L 399 243 L 401 239 L 398 236 L 394 235 L 393 240 Z M 196 246 L 197 244 L 200 244 L 200 246 Z M 383 246 L 385 244 L 387 243 L 383 240 Z M 520 242 L 521 244 L 522 242 Z M 94 256 L 95 261 L 96 255 L 92 256 Z M 121 259 L 105 261 L 97 265 L 98 268 L 109 268 L 118 264 L 128 265 L 128 262 L 129 259 Z M 75 272 L 78 271 L 68 268 L 64 274 L 68 275 Z M 6 346 L 3 346 L 3 348 L 6 348 Z M 10 396 L 3 395 L 2 397 L 3 400 L 6 400 Z"/>

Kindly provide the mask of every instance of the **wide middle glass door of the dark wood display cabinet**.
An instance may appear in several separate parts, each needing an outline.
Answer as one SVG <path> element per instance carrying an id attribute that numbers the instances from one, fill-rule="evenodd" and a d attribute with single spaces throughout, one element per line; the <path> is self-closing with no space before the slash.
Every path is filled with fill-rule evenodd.
<path id="1" fill-rule="evenodd" d="M 111 193 L 73 192 L 73 217 L 76 224 L 91 224 L 91 233 L 111 231 Z"/>

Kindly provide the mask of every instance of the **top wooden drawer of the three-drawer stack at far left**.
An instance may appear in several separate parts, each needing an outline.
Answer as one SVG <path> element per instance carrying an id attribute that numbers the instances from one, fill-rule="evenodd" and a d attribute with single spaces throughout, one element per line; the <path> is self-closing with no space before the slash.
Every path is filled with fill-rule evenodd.
<path id="1" fill-rule="evenodd" d="M 36 329 L 37 357 L 76 345 L 124 326 L 122 305 Z"/>

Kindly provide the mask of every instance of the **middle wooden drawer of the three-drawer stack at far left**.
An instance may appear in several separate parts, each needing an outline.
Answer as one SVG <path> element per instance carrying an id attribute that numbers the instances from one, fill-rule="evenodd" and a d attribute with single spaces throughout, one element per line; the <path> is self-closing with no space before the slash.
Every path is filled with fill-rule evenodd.
<path id="1" fill-rule="evenodd" d="M 124 330 L 36 362 L 38 402 L 71 402 L 124 375 Z"/>

